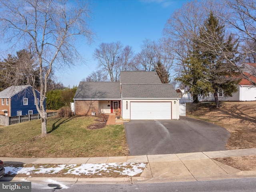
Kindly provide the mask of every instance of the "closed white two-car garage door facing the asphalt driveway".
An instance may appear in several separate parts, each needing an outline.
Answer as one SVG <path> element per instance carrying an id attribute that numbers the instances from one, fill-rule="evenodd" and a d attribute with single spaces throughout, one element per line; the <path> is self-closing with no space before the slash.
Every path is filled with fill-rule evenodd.
<path id="1" fill-rule="evenodd" d="M 171 102 L 130 102 L 131 119 L 171 119 Z"/>

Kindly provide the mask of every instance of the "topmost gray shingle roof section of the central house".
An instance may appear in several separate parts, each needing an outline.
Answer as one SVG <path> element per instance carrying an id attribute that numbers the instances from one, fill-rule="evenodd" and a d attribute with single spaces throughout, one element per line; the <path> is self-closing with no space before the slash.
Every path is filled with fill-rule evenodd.
<path id="1" fill-rule="evenodd" d="M 120 83 L 161 83 L 154 71 L 121 71 Z"/>

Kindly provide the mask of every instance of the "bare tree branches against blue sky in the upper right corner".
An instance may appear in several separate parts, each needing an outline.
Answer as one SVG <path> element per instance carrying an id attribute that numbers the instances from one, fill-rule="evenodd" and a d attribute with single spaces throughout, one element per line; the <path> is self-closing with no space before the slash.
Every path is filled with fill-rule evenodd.
<path id="1" fill-rule="evenodd" d="M 242 63 L 246 58 L 256 54 L 253 42 L 256 42 L 256 1 L 255 0 L 224 0 L 219 2 L 224 6 L 218 10 L 218 16 L 227 26 L 232 28 L 240 40 L 240 51 L 244 53 L 244 60 L 240 62 L 240 73 L 242 77 L 256 86 L 256 82 L 250 75 L 243 72 Z M 250 45 L 248 44 L 250 43 Z M 252 46 L 251 46 L 252 45 Z M 236 63 L 233 63 L 236 65 Z"/>

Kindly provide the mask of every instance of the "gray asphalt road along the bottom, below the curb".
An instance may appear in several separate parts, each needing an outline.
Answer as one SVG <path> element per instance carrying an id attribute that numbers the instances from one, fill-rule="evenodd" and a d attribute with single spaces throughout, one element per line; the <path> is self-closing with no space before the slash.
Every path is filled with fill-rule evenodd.
<path id="1" fill-rule="evenodd" d="M 32 183 L 32 192 L 252 192 L 256 178 L 148 183 L 148 184 L 76 184 L 53 188 L 47 184 Z"/>

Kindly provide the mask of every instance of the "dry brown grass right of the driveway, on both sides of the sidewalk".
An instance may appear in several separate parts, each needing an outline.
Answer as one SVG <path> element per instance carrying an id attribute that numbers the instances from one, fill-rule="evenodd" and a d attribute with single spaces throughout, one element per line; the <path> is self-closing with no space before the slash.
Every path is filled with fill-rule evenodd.
<path id="1" fill-rule="evenodd" d="M 228 150 L 256 148 L 256 101 L 221 102 L 215 108 L 214 102 L 187 104 L 187 116 L 206 120 L 226 128 L 230 139 Z M 215 158 L 215 160 L 242 171 L 256 170 L 256 156 Z"/>

